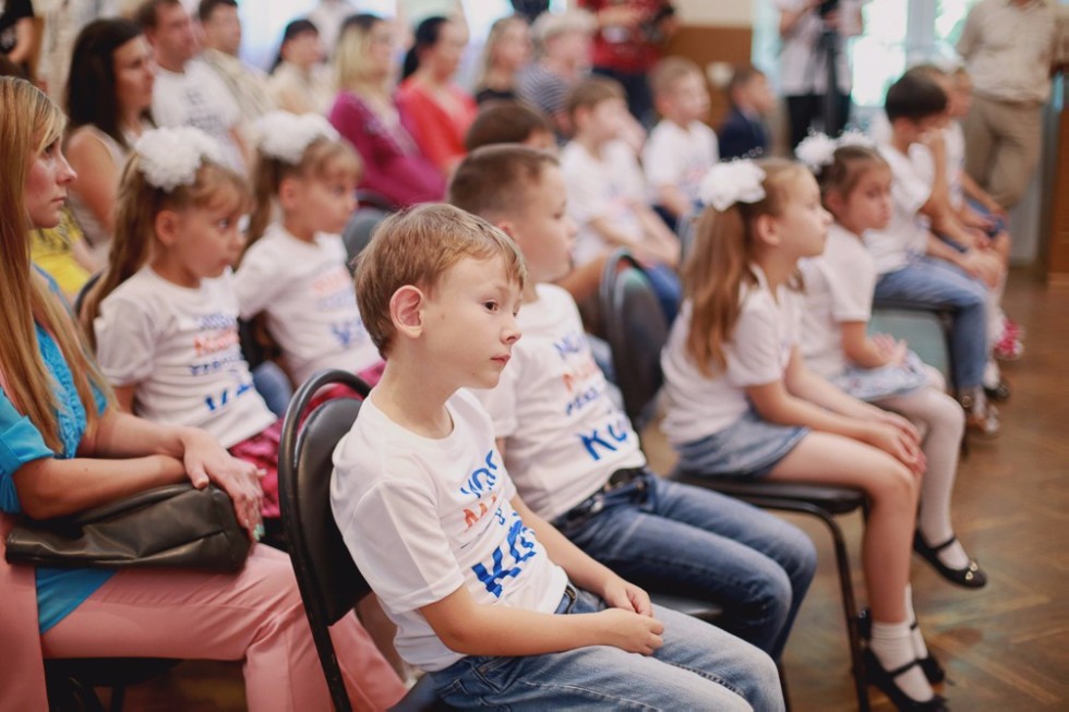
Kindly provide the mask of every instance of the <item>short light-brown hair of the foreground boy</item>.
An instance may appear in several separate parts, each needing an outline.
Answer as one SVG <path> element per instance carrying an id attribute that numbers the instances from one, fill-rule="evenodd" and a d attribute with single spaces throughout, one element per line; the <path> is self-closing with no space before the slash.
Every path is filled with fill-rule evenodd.
<path id="1" fill-rule="evenodd" d="M 508 279 L 527 283 L 524 255 L 512 238 L 480 217 L 445 204 L 420 205 L 387 217 L 357 258 L 357 302 L 364 326 L 386 358 L 394 339 L 389 300 L 406 286 L 433 294 L 461 260 L 501 258 Z"/>

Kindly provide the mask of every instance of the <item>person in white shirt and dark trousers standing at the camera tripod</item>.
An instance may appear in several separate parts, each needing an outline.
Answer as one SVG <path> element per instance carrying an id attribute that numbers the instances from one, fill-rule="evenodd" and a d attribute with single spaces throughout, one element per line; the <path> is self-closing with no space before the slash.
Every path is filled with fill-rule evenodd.
<path id="1" fill-rule="evenodd" d="M 864 2 L 776 0 L 782 39 L 780 92 L 786 98 L 791 148 L 818 120 L 829 136 L 846 125 L 852 81 L 845 39 L 861 34 Z"/>

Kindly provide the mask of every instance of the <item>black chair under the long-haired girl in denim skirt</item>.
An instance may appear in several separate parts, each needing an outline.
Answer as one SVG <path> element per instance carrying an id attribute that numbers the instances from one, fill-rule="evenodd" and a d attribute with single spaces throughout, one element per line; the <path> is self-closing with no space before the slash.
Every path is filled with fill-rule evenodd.
<path id="1" fill-rule="evenodd" d="M 668 341 L 669 328 L 649 281 L 626 250 L 617 250 L 605 263 L 600 301 L 604 337 L 612 349 L 624 410 L 636 430 L 640 430 L 656 415 L 656 399 L 662 383 L 661 349 Z M 810 515 L 825 523 L 834 543 L 857 705 L 868 710 L 850 556 L 842 529 L 836 522 L 837 515 L 857 509 L 864 511 L 864 494 L 851 487 L 737 480 L 700 472 L 675 472 L 672 476 L 678 482 L 714 490 L 758 507 Z"/>

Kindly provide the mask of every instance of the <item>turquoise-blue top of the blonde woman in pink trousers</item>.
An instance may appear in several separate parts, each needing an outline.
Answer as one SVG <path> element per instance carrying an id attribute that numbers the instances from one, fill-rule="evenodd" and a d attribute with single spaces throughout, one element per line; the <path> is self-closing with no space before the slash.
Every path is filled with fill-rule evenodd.
<path id="1" fill-rule="evenodd" d="M 85 408 L 74 388 L 71 369 L 63 352 L 49 334 L 37 326 L 37 346 L 45 366 L 52 375 L 56 400 L 60 403 L 59 432 L 62 452 L 53 452 L 29 419 L 15 410 L 8 395 L 0 388 L 0 509 L 8 514 L 22 511 L 19 493 L 12 475 L 26 462 L 45 457 L 72 458 L 77 451 L 87 425 Z M 97 412 L 104 412 L 107 401 L 93 389 Z M 51 569 L 38 568 L 37 614 L 40 631 L 62 620 L 83 601 L 100 588 L 115 571 L 107 569 Z"/>

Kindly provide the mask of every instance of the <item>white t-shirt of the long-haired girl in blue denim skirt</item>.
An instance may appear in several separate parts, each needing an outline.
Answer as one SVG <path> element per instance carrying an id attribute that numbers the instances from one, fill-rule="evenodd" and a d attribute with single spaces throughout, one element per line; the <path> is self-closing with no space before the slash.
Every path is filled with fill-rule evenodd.
<path id="1" fill-rule="evenodd" d="M 750 409 L 746 388 L 783 378 L 791 349 L 798 341 L 802 297 L 781 286 L 773 299 L 765 273 L 750 265 L 757 283 L 741 288 L 741 312 L 724 346 L 728 367 L 706 376 L 686 352 L 693 303 L 687 300 L 672 325 L 661 354 L 669 442 L 684 445 L 714 435 Z"/>

